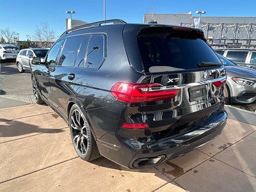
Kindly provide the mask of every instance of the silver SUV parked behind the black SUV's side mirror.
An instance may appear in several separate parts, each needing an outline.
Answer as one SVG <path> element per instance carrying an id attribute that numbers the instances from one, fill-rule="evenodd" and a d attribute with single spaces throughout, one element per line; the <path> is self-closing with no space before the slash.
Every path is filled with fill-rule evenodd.
<path id="1" fill-rule="evenodd" d="M 16 65 L 19 72 L 22 73 L 26 69 L 31 70 L 34 67 L 31 63 L 32 59 L 40 57 L 43 61 L 48 51 L 48 48 L 29 48 L 20 50 L 16 59 Z"/>

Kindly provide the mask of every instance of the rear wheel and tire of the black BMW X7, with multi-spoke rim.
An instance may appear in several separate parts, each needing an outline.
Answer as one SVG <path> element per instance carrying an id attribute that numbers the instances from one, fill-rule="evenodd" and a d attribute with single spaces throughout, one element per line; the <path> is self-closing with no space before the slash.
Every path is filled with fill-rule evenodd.
<path id="1" fill-rule="evenodd" d="M 68 116 L 68 125 L 74 148 L 84 161 L 92 161 L 100 157 L 91 127 L 81 109 L 74 104 Z"/>

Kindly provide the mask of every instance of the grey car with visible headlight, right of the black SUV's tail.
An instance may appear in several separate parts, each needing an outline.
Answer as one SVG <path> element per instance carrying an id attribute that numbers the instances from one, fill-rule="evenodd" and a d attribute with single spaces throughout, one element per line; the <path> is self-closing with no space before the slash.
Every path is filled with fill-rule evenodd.
<path id="1" fill-rule="evenodd" d="M 256 70 L 241 67 L 224 56 L 218 57 L 227 70 L 227 83 L 225 84 L 225 103 L 251 104 L 256 100 Z"/>

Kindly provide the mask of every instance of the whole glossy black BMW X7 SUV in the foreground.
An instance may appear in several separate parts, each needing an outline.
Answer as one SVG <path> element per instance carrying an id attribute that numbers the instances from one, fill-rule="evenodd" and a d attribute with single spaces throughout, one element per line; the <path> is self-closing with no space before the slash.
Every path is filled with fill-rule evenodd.
<path id="1" fill-rule="evenodd" d="M 85 161 L 156 166 L 226 124 L 225 67 L 200 29 L 95 22 L 66 31 L 33 63 L 36 102 L 68 122 Z"/>

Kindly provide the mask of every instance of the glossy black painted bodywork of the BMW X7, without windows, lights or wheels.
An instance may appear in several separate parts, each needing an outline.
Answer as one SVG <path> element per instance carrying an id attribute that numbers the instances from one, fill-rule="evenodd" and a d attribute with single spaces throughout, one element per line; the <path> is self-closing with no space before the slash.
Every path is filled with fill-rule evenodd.
<path id="1" fill-rule="evenodd" d="M 204 145 L 220 134 L 227 120 L 223 86 L 218 88 L 212 84 L 225 79 L 223 66 L 150 73 L 143 71 L 138 52 L 128 58 L 127 54 L 133 54 L 131 46 L 136 45 L 136 39 L 130 38 L 131 42 L 125 46 L 129 35 L 124 40 L 123 34 L 134 35 L 148 27 L 101 26 L 64 34 L 60 39 L 88 33 L 106 34 L 106 60 L 100 68 L 36 65 L 32 72 L 39 94 L 49 106 L 68 122 L 69 110 L 72 104 L 77 104 L 88 118 L 100 154 L 129 168 L 136 168 L 134 162 L 140 158 L 163 156 L 159 161 L 163 163 Z M 203 79 L 205 71 L 209 74 L 206 80 Z M 179 79 L 169 81 L 175 78 Z M 125 103 L 116 100 L 110 92 L 117 82 L 160 83 L 178 87 L 180 92 L 173 99 Z M 189 100 L 189 88 L 196 86 L 204 87 L 206 95 Z M 149 128 L 125 129 L 124 123 L 147 123 Z"/>

